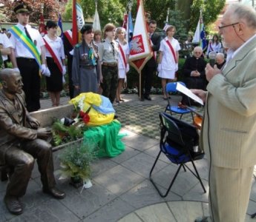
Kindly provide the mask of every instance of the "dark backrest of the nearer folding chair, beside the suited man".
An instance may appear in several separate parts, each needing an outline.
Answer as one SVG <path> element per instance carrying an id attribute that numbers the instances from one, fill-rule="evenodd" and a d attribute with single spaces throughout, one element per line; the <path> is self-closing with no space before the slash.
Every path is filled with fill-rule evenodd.
<path id="1" fill-rule="evenodd" d="M 192 151 L 194 146 L 198 146 L 199 135 L 197 132 L 197 127 L 194 127 L 185 121 L 174 118 L 172 115 L 168 115 L 166 112 L 160 112 L 160 121 L 165 129 L 165 132 L 168 132 L 166 141 L 172 147 Z M 164 142 L 163 136 L 164 135 L 161 135 L 162 142 Z"/>

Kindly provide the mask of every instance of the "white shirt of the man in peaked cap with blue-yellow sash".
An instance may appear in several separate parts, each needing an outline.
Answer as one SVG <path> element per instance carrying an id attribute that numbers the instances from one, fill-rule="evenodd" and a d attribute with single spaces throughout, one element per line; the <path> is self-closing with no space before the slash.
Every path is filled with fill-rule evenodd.
<path id="1" fill-rule="evenodd" d="M 16 24 L 16 27 L 19 27 L 20 30 L 25 34 L 24 26 L 22 24 Z M 45 41 L 42 39 L 42 36 L 39 33 L 39 30 L 31 27 L 29 24 L 26 25 L 27 32 L 30 34 L 33 43 L 36 45 L 39 54 L 41 55 L 41 47 L 45 45 Z M 27 50 L 26 47 L 19 41 L 13 34 L 10 36 L 10 41 L 13 44 L 13 48 L 15 50 L 15 56 L 24 57 L 24 58 L 34 58 L 33 55 Z"/>

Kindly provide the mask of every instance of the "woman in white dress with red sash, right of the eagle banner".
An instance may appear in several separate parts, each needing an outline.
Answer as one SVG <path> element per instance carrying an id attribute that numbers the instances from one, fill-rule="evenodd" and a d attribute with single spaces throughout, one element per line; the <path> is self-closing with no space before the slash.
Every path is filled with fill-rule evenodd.
<path id="1" fill-rule="evenodd" d="M 163 99 L 167 99 L 166 84 L 175 79 L 178 70 L 180 43 L 175 39 L 175 27 L 170 25 L 165 30 L 166 37 L 160 43 L 160 57 L 157 67 L 158 76 L 162 78 Z"/>

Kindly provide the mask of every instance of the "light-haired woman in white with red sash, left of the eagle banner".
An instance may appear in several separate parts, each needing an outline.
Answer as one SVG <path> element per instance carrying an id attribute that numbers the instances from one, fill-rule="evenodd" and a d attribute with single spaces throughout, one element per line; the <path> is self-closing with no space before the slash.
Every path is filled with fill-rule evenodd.
<path id="1" fill-rule="evenodd" d="M 118 42 L 118 86 L 116 89 L 116 103 L 124 101 L 121 98 L 121 91 L 125 82 L 126 73 L 129 71 L 128 56 L 129 45 L 125 40 L 125 29 L 123 27 L 116 28 L 116 41 Z"/>

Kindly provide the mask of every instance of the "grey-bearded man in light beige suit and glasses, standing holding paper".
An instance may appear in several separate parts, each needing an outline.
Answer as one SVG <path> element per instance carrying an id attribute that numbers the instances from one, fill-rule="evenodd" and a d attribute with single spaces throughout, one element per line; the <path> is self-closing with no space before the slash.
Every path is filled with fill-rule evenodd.
<path id="1" fill-rule="evenodd" d="M 206 66 L 208 92 L 202 145 L 209 159 L 210 217 L 196 221 L 242 222 L 256 164 L 256 13 L 231 4 L 220 23 L 229 48 L 223 70 Z"/>

